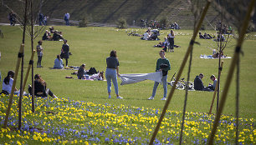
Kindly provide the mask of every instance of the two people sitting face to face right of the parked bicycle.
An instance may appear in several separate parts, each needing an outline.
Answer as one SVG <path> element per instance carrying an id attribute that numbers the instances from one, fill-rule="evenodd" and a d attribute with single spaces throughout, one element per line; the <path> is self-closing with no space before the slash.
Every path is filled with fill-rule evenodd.
<path id="1" fill-rule="evenodd" d="M 194 79 L 194 88 L 195 88 L 195 90 L 213 92 L 215 90 L 215 87 L 216 87 L 216 84 L 217 84 L 218 80 L 212 74 L 210 79 L 213 81 L 213 83 L 209 83 L 209 85 L 207 87 L 205 87 L 202 83 L 202 78 L 203 77 L 204 77 L 204 75 L 202 73 L 200 73 L 199 76 L 195 77 L 195 79 Z"/>

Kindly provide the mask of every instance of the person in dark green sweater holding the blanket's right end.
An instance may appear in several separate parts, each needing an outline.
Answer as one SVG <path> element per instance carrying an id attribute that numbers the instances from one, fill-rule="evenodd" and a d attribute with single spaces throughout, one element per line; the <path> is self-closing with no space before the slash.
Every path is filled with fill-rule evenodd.
<path id="1" fill-rule="evenodd" d="M 161 58 L 159 58 L 156 62 L 156 72 L 161 71 L 162 72 L 162 78 L 161 78 L 161 82 L 162 82 L 162 86 L 164 88 L 164 95 L 161 98 L 161 100 L 166 100 L 166 95 L 167 95 L 167 74 L 168 71 L 171 70 L 171 65 L 169 60 L 166 58 L 166 52 L 164 50 L 161 50 L 159 52 L 159 55 Z M 153 100 L 155 95 L 156 95 L 156 88 L 158 87 L 159 82 L 155 82 L 154 87 L 153 87 L 153 92 L 151 97 L 148 98 L 148 100 Z"/>

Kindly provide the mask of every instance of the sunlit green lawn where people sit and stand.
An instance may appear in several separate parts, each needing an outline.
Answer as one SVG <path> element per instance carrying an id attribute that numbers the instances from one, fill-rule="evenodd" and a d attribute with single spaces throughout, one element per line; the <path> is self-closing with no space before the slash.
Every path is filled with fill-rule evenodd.
<path id="1" fill-rule="evenodd" d="M 118 30 L 116 28 L 76 28 L 54 26 L 55 29 L 63 32 L 64 38 L 68 40 L 70 52 L 73 55 L 69 57 L 69 66 L 80 66 L 82 63 L 86 64 L 86 69 L 95 67 L 99 71 L 105 71 L 105 58 L 109 57 L 112 49 L 117 51 L 120 60 L 120 74 L 122 73 L 148 73 L 155 72 L 156 60 L 159 57 L 158 52 L 160 48 L 152 47 L 158 41 L 141 41 L 140 37 L 129 37 L 125 30 Z M 1 26 L 4 38 L 0 38 L 0 51 L 2 54 L 0 61 L 0 71 L 3 77 L 6 76 L 8 70 L 14 70 L 17 62 L 17 54 L 20 43 L 22 42 L 22 31 L 18 27 Z M 128 31 L 130 31 L 129 29 Z M 137 32 L 143 33 L 146 30 L 138 29 Z M 168 31 L 161 31 L 161 41 L 166 36 Z M 213 31 L 211 31 L 214 33 Z M 171 62 L 171 71 L 168 74 L 168 81 L 172 78 L 174 72 L 178 72 L 179 67 L 187 46 L 192 37 L 192 30 L 176 30 L 177 34 L 175 43 L 181 47 L 175 48 L 175 52 L 166 52 L 166 57 Z M 255 33 L 253 34 L 255 35 Z M 34 42 L 34 48 L 37 41 L 43 36 L 39 35 Z M 24 73 L 28 67 L 28 61 L 31 55 L 30 38 L 25 40 L 25 57 L 24 57 Z M 215 74 L 218 76 L 218 60 L 201 59 L 201 54 L 212 54 L 212 50 L 208 47 L 217 46 L 216 42 L 212 40 L 198 40 L 201 45 L 195 45 L 192 54 L 192 71 L 191 81 L 199 73 L 204 73 L 205 77 L 202 79 L 204 85 L 207 85 L 210 76 Z M 42 61 L 42 68 L 34 68 L 35 73 L 39 73 L 47 82 L 48 87 L 58 96 L 69 98 L 72 100 L 79 100 L 85 102 L 95 103 L 109 103 L 114 105 L 123 104 L 125 106 L 133 107 L 152 107 L 161 109 L 164 101 L 161 101 L 163 94 L 162 86 L 159 86 L 156 92 L 156 97 L 153 101 L 148 101 L 147 98 L 151 96 L 154 82 L 145 81 L 136 84 L 119 86 L 120 95 L 124 97 L 122 100 L 115 99 L 115 91 L 112 88 L 112 99 L 108 99 L 106 82 L 101 81 L 84 81 L 77 79 L 67 79 L 66 76 L 72 76 L 74 70 L 53 70 L 49 67 L 54 66 L 54 59 L 59 54 L 63 42 L 43 42 L 44 57 Z M 233 57 L 235 39 L 230 42 L 230 46 L 225 49 L 225 54 Z M 255 60 L 255 40 L 246 40 L 243 43 L 243 56 L 241 55 L 240 64 L 240 117 L 256 118 L 255 113 L 255 81 L 256 81 L 256 64 Z M 224 83 L 231 59 L 223 59 L 223 72 L 221 77 L 221 91 L 223 91 Z M 36 64 L 37 57 L 34 58 Z M 64 61 L 65 62 L 65 61 Z M 187 65 L 188 67 L 188 65 Z M 187 78 L 187 67 L 185 67 L 182 77 Z M 20 74 L 20 72 L 19 72 Z M 18 76 L 20 79 L 20 76 Z M 120 79 L 118 80 L 120 84 Z M 2 83 L 2 82 L 1 82 Z M 29 77 L 28 83 L 31 83 Z M 19 87 L 19 81 L 16 84 Z M 26 85 L 28 86 L 28 85 Z M 2 90 L 2 84 L 1 84 Z M 27 88 L 26 88 L 27 89 Z M 168 87 L 170 92 L 171 87 Z M 196 92 L 188 93 L 187 112 L 208 112 L 212 102 L 213 92 Z M 235 116 L 235 95 L 236 84 L 235 76 L 228 92 L 228 100 L 225 104 L 223 113 L 226 115 Z M 172 97 L 169 110 L 182 111 L 184 104 L 185 91 L 176 90 Z M 213 113 L 215 113 L 215 105 Z"/>

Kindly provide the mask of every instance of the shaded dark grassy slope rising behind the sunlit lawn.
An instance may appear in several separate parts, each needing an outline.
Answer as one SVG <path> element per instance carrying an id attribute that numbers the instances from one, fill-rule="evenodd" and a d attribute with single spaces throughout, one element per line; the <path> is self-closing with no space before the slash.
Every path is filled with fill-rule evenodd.
<path id="1" fill-rule="evenodd" d="M 199 2 L 203 7 L 206 1 Z M 15 13 L 22 16 L 24 2 L 18 0 L 3 0 Z M 34 12 L 39 11 L 41 1 L 34 1 Z M 177 22 L 182 28 L 192 28 L 193 15 L 191 4 L 182 0 L 45 0 L 42 3 L 42 13 L 49 18 L 64 18 L 64 13 L 70 13 L 71 20 L 80 20 L 84 17 L 94 23 L 115 23 L 118 18 L 125 18 L 128 24 L 141 24 L 141 19 L 160 20 L 167 18 L 170 23 Z M 0 23 L 8 23 L 9 9 L 1 5 Z M 207 13 L 207 20 L 218 20 L 217 12 L 210 7 Z M 207 21 L 206 21 L 207 22 Z M 207 23 L 206 23 L 207 26 Z M 210 27 L 208 25 L 208 27 Z"/>

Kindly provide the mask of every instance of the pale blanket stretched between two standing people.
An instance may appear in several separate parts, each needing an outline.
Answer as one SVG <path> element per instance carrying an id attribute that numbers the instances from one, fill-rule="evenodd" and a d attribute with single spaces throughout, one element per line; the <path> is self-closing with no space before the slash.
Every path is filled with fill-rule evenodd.
<path id="1" fill-rule="evenodd" d="M 152 80 L 161 83 L 161 72 L 120 74 L 120 85 Z"/>

